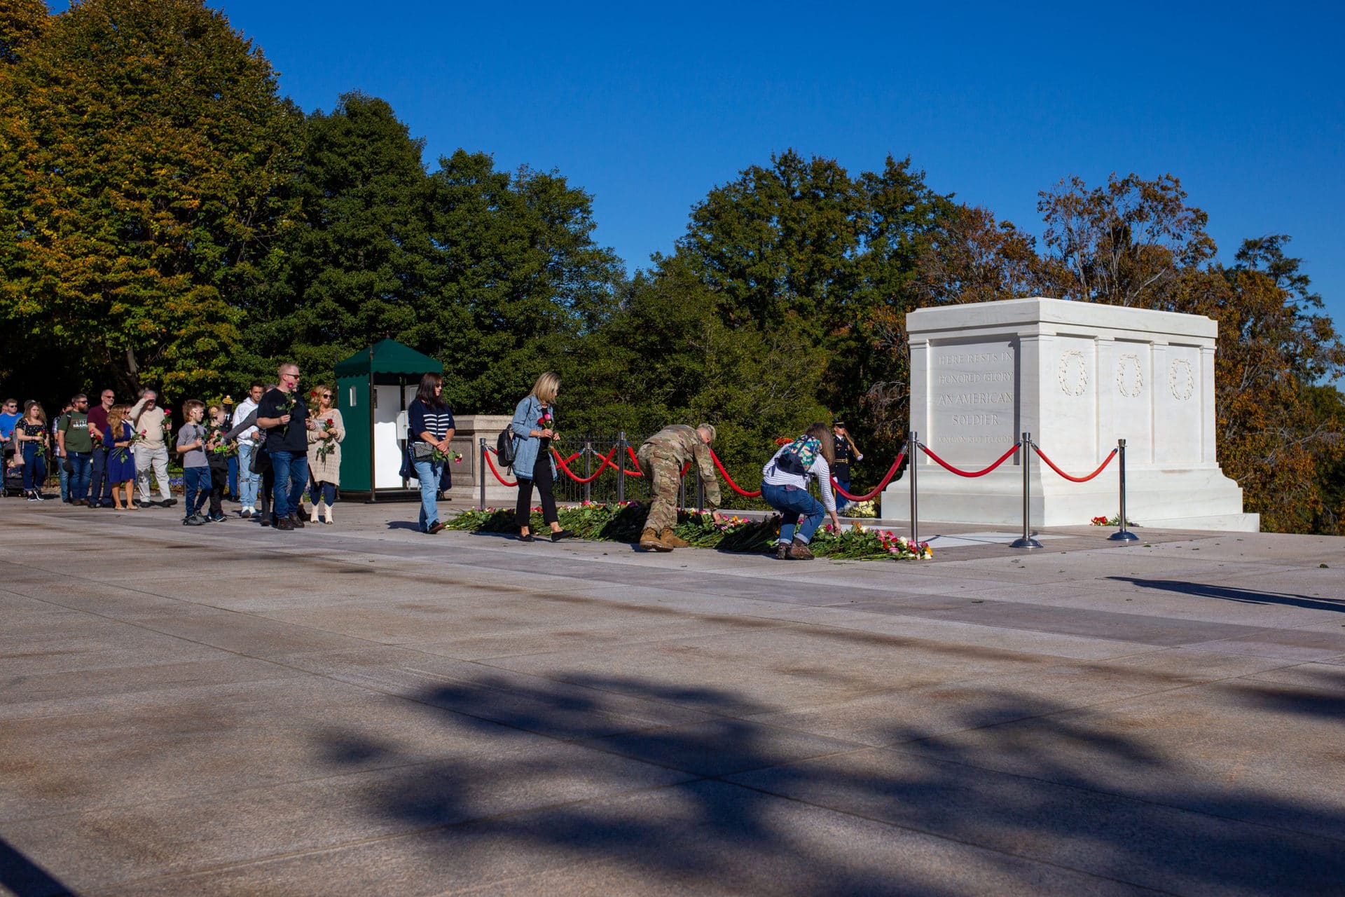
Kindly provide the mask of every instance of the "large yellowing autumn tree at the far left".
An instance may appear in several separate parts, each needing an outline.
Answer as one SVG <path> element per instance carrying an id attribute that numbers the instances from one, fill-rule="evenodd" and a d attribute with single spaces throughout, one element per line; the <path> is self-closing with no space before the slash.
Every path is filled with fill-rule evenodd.
<path id="1" fill-rule="evenodd" d="M 0 320 L 122 393 L 217 385 L 295 113 L 203 0 L 86 0 L 0 67 Z"/>

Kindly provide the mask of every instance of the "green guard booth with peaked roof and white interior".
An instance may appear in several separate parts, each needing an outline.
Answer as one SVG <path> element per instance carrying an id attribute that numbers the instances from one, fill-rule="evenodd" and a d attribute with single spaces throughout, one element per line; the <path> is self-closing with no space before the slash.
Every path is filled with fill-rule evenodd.
<path id="1" fill-rule="evenodd" d="M 444 366 L 385 339 L 336 363 L 336 407 L 346 422 L 340 452 L 342 492 L 379 492 L 409 488 L 399 475 L 406 438 L 406 407 L 416 398 L 420 378 L 443 374 Z"/>

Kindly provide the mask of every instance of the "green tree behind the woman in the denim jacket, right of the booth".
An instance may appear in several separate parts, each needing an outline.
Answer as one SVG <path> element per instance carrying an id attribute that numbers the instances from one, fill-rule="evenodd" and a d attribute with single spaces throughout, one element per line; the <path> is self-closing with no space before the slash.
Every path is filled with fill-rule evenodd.
<path id="1" fill-rule="evenodd" d="M 456 407 L 512 412 L 611 317 L 620 260 L 593 242 L 592 198 L 558 172 L 495 169 L 457 151 L 430 176 L 436 280 L 412 344 L 433 351 Z"/>

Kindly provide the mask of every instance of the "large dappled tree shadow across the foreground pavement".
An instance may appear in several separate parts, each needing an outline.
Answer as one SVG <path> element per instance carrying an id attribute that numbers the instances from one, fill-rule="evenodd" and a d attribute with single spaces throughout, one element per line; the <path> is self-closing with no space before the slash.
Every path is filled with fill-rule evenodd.
<path id="1" fill-rule="evenodd" d="M 1289 894 L 1345 881 L 1340 802 L 1221 780 L 1104 710 L 1050 699 L 987 689 L 936 724 L 892 719 L 874 748 L 756 722 L 779 707 L 732 689 L 636 675 L 487 675 L 406 697 L 449 729 L 499 734 L 499 750 L 424 763 L 330 732 L 340 750 L 327 756 L 340 768 L 382 753 L 397 772 L 366 811 L 438 841 L 426 874 L 467 875 L 459 886 L 503 877 L 506 857 L 597 862 L 628 888 L 683 893 Z M 1340 711 L 1247 706 L 1268 719 Z"/>

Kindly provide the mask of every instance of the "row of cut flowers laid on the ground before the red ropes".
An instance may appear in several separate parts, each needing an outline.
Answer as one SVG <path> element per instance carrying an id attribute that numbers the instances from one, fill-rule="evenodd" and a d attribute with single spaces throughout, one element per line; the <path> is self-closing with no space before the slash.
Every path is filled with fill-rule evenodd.
<path id="1" fill-rule="evenodd" d="M 632 543 L 640 541 L 647 511 L 648 508 L 639 502 L 609 504 L 585 502 L 557 508 L 561 526 L 574 533 L 577 538 Z M 514 508 L 484 508 L 463 511 L 448 523 L 448 529 L 469 533 L 516 533 L 518 524 L 514 520 Z M 541 508 L 533 508 L 531 529 L 538 533 L 546 531 Z M 780 537 L 780 515 L 763 520 L 730 516 L 722 523 L 716 523 L 709 514 L 679 510 L 677 534 L 699 549 L 773 551 Z M 839 531 L 831 524 L 823 526 L 812 535 L 808 547 L 818 557 L 857 561 L 885 558 L 915 561 L 933 557 L 925 542 L 916 543 L 885 530 L 866 530 L 858 523 Z"/>

